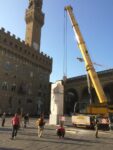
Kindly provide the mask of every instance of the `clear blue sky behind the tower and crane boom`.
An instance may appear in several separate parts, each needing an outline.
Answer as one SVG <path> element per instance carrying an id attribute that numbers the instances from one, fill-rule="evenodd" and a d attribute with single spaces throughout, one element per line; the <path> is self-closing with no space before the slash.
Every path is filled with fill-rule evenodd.
<path id="1" fill-rule="evenodd" d="M 0 0 L 0 28 L 4 27 L 22 40 L 25 39 L 25 9 L 28 0 Z M 41 51 L 53 58 L 50 80 L 63 78 L 64 67 L 67 77 L 86 73 L 77 47 L 72 26 L 67 16 L 67 43 L 64 43 L 64 7 L 72 5 L 83 38 L 96 71 L 113 68 L 113 0 L 43 0 L 45 25 L 42 28 Z M 65 50 L 64 50 L 65 48 Z M 63 65 L 67 51 L 67 65 Z"/>

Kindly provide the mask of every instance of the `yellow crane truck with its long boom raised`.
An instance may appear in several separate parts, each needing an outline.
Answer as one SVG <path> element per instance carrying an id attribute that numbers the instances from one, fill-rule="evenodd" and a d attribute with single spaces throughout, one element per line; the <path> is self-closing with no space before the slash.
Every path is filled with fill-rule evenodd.
<path id="1" fill-rule="evenodd" d="M 108 105 L 107 97 L 104 93 L 104 90 L 102 88 L 102 85 L 100 83 L 100 80 L 98 78 L 98 75 L 95 71 L 95 68 L 93 66 L 92 60 L 90 58 L 90 55 L 88 53 L 85 41 L 83 39 L 83 36 L 80 32 L 78 23 L 75 19 L 75 16 L 73 14 L 73 9 L 71 6 L 66 6 L 65 10 L 67 11 L 72 28 L 74 30 L 74 34 L 77 40 L 78 47 L 80 49 L 80 52 L 82 54 L 83 60 L 85 62 L 85 68 L 87 71 L 87 74 L 90 78 L 91 84 L 95 89 L 95 92 L 97 94 L 99 104 L 88 104 L 86 108 L 86 112 L 83 114 L 76 114 L 72 116 L 72 123 L 75 125 L 93 125 L 94 117 L 95 115 L 103 115 L 103 119 L 100 119 L 101 124 L 105 123 L 108 124 L 108 116 L 110 114 L 113 114 L 113 106 Z"/>

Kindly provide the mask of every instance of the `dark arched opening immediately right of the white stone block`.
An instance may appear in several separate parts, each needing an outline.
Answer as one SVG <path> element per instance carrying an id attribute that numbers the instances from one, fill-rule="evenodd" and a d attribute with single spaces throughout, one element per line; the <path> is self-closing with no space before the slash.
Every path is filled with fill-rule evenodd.
<path id="1" fill-rule="evenodd" d="M 64 114 L 71 115 L 74 112 L 75 104 L 78 102 L 78 94 L 75 89 L 69 89 L 64 95 Z"/>

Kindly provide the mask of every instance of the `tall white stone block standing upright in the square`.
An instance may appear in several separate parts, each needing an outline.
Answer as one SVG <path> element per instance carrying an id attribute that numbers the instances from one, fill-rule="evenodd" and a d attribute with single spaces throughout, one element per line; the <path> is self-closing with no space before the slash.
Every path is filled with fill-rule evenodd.
<path id="1" fill-rule="evenodd" d="M 51 114 L 49 124 L 57 125 L 59 117 L 63 115 L 64 86 L 62 81 L 51 85 Z"/>

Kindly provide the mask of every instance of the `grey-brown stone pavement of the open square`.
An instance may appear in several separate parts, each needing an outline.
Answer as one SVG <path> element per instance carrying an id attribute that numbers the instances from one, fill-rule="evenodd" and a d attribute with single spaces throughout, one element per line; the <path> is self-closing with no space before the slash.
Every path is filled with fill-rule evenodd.
<path id="1" fill-rule="evenodd" d="M 11 140 L 10 119 L 5 127 L 0 127 L 0 150 L 112 150 L 113 131 L 99 132 L 95 138 L 95 131 L 66 128 L 66 136 L 59 139 L 55 126 L 46 125 L 41 138 L 37 136 L 36 119 L 30 119 L 26 129 L 21 128 L 16 139 Z"/>

